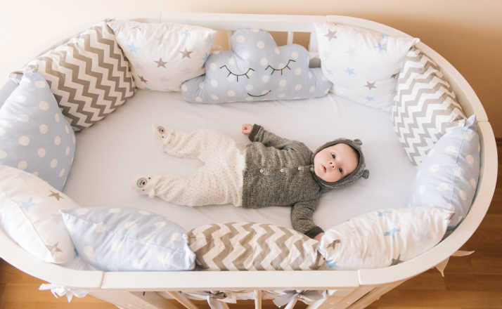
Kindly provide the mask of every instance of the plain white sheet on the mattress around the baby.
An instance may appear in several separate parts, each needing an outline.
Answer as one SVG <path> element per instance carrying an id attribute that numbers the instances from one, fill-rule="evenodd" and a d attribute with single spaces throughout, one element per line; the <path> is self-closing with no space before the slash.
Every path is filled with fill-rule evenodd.
<path id="1" fill-rule="evenodd" d="M 75 162 L 64 192 L 80 206 L 130 206 L 160 213 L 189 230 L 207 223 L 252 221 L 291 228 L 290 207 L 187 207 L 137 196 L 131 183 L 146 173 L 191 173 L 201 162 L 161 152 L 152 124 L 173 129 L 218 129 L 238 143 L 243 123 L 261 124 L 315 150 L 335 138 L 360 138 L 370 177 L 321 197 L 314 221 L 328 229 L 380 208 L 406 206 L 416 173 L 399 145 L 389 114 L 332 94 L 324 98 L 262 103 L 186 103 L 180 93 L 137 91 L 103 121 L 77 133 Z"/>

